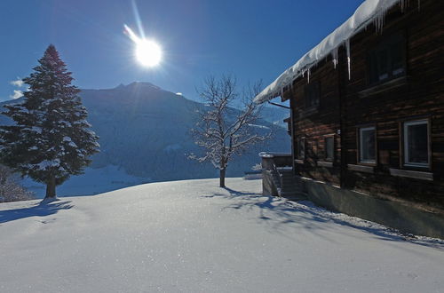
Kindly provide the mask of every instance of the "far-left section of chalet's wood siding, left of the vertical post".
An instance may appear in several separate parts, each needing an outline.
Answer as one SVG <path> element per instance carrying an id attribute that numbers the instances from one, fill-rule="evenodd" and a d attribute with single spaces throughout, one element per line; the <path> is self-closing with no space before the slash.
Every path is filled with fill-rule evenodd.
<path id="1" fill-rule="evenodd" d="M 305 160 L 295 164 L 297 175 L 335 185 L 340 184 L 340 139 L 337 135 L 340 129 L 338 78 L 339 70 L 333 67 L 331 60 L 323 61 L 316 68 L 312 68 L 310 75 L 310 83 L 319 83 L 319 106 L 305 106 L 305 91 L 308 89 L 306 75 L 293 84 L 290 100 L 294 115 L 293 129 L 296 131 L 293 137 L 305 137 Z M 332 134 L 335 138 L 335 160 L 332 166 L 326 166 L 322 164 L 326 162 L 325 136 Z M 293 145 L 297 146 L 296 141 Z"/>

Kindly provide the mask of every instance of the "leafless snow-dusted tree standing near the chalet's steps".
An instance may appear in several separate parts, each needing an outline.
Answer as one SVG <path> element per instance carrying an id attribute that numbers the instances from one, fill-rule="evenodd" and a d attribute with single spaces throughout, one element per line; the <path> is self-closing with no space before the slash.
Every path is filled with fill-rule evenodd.
<path id="1" fill-rule="evenodd" d="M 198 110 L 200 120 L 191 130 L 194 142 L 204 149 L 202 156 L 190 155 L 198 162 L 211 162 L 219 170 L 219 186 L 225 187 L 226 167 L 234 154 L 241 155 L 252 145 L 268 139 L 271 132 L 255 127 L 260 106 L 253 102 L 261 83 L 250 85 L 239 93 L 232 75 L 219 79 L 209 76 L 197 92 L 205 107 Z M 240 100 L 242 109 L 232 107 Z M 261 133 L 262 132 L 262 133 Z"/>

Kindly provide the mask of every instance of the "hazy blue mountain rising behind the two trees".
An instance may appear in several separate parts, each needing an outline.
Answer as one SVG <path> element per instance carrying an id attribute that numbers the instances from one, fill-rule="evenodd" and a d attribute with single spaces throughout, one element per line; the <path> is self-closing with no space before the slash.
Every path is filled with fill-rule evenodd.
<path id="1" fill-rule="evenodd" d="M 210 163 L 195 162 L 186 155 L 200 152 L 189 129 L 196 122 L 195 110 L 205 107 L 202 103 L 139 82 L 82 90 L 80 96 L 89 113 L 88 122 L 99 135 L 100 153 L 92 157 L 92 169 L 114 165 L 146 181 L 218 177 L 218 170 Z M 8 103 L 17 101 L 20 99 Z M 269 115 L 272 110 L 267 111 Z M 8 123 L 6 117 L 0 117 L 0 123 Z M 284 128 L 265 120 L 257 124 L 252 127 L 258 131 L 272 129 L 273 139 L 235 157 L 228 165 L 228 177 L 250 170 L 260 162 L 261 151 L 289 151 L 289 135 Z"/>

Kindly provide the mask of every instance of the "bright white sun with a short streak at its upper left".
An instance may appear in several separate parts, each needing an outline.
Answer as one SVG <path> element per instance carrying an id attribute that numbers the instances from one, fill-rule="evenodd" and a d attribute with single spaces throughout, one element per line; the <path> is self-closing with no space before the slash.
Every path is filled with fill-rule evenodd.
<path id="1" fill-rule="evenodd" d="M 162 49 L 155 41 L 136 36 L 131 28 L 124 26 L 125 33 L 136 45 L 135 55 L 139 63 L 146 67 L 155 67 L 162 60 Z"/>

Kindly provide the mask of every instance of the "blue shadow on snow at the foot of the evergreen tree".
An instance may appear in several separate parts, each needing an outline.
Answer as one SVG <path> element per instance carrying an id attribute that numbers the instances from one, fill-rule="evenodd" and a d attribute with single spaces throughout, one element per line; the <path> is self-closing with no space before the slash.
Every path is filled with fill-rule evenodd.
<path id="1" fill-rule="evenodd" d="M 0 224 L 15 221 L 20 218 L 45 217 L 53 215 L 56 214 L 59 210 L 71 209 L 73 205 L 69 203 L 70 201 L 61 202 L 59 200 L 42 201 L 28 208 L 0 210 Z"/>

